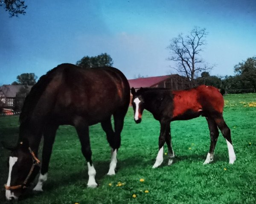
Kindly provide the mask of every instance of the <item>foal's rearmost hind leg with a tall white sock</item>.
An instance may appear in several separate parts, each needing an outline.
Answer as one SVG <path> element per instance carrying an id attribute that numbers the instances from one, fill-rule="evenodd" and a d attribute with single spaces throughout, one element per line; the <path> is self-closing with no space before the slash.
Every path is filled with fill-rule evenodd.
<path id="1" fill-rule="evenodd" d="M 229 156 L 229 163 L 233 164 L 236 161 L 236 154 L 232 145 L 231 141 L 231 134 L 230 134 L 230 128 L 227 127 L 227 124 L 225 123 L 222 116 L 219 116 L 218 118 L 215 118 L 215 122 L 218 125 L 218 128 L 221 130 L 222 135 L 226 139 L 227 142 L 227 148 L 228 148 L 228 156 Z"/>

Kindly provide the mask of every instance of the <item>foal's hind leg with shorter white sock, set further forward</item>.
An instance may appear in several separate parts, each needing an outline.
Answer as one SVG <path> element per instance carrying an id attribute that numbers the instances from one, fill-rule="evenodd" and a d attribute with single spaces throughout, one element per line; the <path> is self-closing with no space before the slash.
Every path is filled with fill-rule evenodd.
<path id="1" fill-rule="evenodd" d="M 211 144 L 210 144 L 209 153 L 207 154 L 204 164 L 209 164 L 210 162 L 213 161 L 213 153 L 215 150 L 216 142 L 218 140 L 219 132 L 218 132 L 217 124 L 215 123 L 214 119 L 212 119 L 211 117 L 206 117 L 206 119 L 207 119 L 208 127 L 210 130 Z"/>

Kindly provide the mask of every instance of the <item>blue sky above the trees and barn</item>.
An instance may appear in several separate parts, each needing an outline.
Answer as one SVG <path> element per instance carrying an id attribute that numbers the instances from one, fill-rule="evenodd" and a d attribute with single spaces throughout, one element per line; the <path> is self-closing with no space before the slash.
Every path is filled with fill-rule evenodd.
<path id="1" fill-rule="evenodd" d="M 128 79 L 176 74 L 166 48 L 195 27 L 209 32 L 201 57 L 211 75 L 234 75 L 256 56 L 256 0 L 25 0 L 26 14 L 0 7 L 0 85 L 41 77 L 61 63 L 108 53 Z"/>

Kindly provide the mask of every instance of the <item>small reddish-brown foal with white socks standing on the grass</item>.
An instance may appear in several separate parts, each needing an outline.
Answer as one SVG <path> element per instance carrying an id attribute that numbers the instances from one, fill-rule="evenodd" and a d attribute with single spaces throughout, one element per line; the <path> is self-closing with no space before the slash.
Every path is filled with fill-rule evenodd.
<path id="1" fill-rule="evenodd" d="M 131 88 L 134 120 L 141 122 L 143 110 L 151 112 L 160 122 L 159 152 L 153 168 L 163 162 L 163 145 L 166 142 L 171 165 L 175 157 L 172 149 L 170 122 L 188 120 L 200 115 L 205 116 L 210 130 L 211 144 L 204 164 L 213 161 L 213 152 L 218 139 L 218 128 L 227 141 L 229 163 L 233 164 L 236 155 L 233 149 L 230 129 L 223 119 L 224 99 L 217 88 L 201 85 L 196 88 L 172 91 L 165 88 L 140 88 L 137 92 Z"/>

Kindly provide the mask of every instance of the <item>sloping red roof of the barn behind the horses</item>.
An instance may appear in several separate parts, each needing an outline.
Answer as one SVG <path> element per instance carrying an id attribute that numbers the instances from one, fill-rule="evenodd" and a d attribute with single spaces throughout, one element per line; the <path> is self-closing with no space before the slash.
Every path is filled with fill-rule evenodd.
<path id="1" fill-rule="evenodd" d="M 129 79 L 128 82 L 130 87 L 132 88 L 140 88 L 140 87 L 151 87 L 157 85 L 158 83 L 168 79 L 170 75 L 159 76 L 159 77 L 147 77 L 147 78 L 139 78 L 139 79 Z"/>

